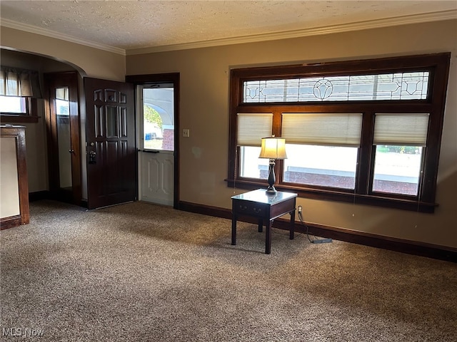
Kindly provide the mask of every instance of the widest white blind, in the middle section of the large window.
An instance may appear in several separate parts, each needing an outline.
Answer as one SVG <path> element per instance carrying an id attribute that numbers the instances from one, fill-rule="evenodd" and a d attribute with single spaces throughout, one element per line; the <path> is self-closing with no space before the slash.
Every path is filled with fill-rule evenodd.
<path id="1" fill-rule="evenodd" d="M 361 113 L 283 113 L 281 137 L 287 143 L 358 147 Z"/>

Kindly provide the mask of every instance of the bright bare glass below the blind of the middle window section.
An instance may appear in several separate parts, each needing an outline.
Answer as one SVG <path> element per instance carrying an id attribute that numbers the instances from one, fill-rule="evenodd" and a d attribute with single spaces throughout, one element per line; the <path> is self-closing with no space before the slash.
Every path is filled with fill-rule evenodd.
<path id="1" fill-rule="evenodd" d="M 284 182 L 354 189 L 358 147 L 286 144 Z"/>

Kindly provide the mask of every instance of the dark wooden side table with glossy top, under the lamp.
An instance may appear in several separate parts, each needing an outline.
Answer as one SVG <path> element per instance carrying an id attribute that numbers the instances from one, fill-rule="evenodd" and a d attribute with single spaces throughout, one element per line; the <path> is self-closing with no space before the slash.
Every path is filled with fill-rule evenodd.
<path id="1" fill-rule="evenodd" d="M 231 244 L 236 244 L 236 221 L 240 216 L 255 217 L 258 220 L 258 232 L 266 226 L 265 253 L 271 252 L 271 224 L 284 215 L 291 215 L 289 238 L 293 239 L 295 222 L 295 204 L 297 194 L 278 191 L 276 195 L 267 195 L 266 190 L 258 189 L 231 197 Z"/>

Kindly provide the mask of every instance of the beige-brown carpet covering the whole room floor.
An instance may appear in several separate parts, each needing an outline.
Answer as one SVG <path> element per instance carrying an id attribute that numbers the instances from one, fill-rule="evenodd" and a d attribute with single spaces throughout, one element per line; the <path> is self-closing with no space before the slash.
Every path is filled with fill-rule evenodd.
<path id="1" fill-rule="evenodd" d="M 142 202 L 1 231 L 2 341 L 457 341 L 457 264 Z M 21 335 L 21 336 L 20 336 Z"/>

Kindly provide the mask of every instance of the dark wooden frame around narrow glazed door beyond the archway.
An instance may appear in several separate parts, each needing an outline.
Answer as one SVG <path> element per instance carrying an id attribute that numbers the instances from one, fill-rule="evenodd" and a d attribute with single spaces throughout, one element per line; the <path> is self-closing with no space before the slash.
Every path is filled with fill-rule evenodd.
<path id="1" fill-rule="evenodd" d="M 45 122 L 48 148 L 49 192 L 51 198 L 64 200 L 72 204 L 82 205 L 81 186 L 81 124 L 79 115 L 79 74 L 76 71 L 44 73 Z M 68 86 L 70 98 L 71 128 L 71 199 L 61 197 L 59 175 L 59 141 L 57 136 L 57 120 L 51 106 L 51 87 Z"/>

